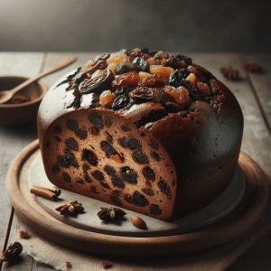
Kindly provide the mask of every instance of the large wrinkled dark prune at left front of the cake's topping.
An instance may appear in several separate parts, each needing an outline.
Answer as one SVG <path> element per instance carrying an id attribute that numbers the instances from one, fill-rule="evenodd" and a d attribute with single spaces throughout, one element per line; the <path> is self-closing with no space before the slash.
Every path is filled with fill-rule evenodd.
<path id="1" fill-rule="evenodd" d="M 79 85 L 79 90 L 82 94 L 90 92 L 102 92 L 105 89 L 110 89 L 111 82 L 115 76 L 111 70 L 104 70 L 103 73 L 93 79 L 86 79 Z"/>

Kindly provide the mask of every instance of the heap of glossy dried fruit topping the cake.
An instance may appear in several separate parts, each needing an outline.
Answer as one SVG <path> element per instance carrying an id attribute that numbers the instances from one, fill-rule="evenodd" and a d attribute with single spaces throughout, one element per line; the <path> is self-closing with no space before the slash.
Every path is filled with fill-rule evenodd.
<path id="1" fill-rule="evenodd" d="M 102 108 L 121 114 L 135 104 L 164 107 L 166 114 L 192 111 L 195 102 L 209 103 L 219 112 L 220 88 L 215 77 L 182 54 L 147 48 L 105 53 L 71 74 L 68 107 Z M 150 104 L 147 105 L 150 107 Z"/>

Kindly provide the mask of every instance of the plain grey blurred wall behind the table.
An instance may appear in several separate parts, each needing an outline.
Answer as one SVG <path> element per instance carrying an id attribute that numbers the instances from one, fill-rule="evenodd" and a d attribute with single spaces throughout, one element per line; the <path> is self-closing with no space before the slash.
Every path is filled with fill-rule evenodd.
<path id="1" fill-rule="evenodd" d="M 271 52 L 271 1 L 0 0 L 0 51 Z"/>

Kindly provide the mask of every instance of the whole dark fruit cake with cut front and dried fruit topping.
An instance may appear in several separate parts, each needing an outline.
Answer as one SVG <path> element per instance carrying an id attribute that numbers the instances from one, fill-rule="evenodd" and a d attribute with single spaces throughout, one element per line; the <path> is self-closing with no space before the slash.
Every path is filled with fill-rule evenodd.
<path id="1" fill-rule="evenodd" d="M 243 116 L 191 58 L 106 53 L 53 86 L 38 113 L 42 161 L 63 189 L 170 220 L 229 186 Z"/>

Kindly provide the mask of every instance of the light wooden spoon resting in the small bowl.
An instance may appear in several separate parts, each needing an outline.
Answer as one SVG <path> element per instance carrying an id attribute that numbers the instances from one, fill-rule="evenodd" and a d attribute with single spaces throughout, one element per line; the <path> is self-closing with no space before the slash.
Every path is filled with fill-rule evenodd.
<path id="1" fill-rule="evenodd" d="M 45 76 L 47 74 L 50 74 L 51 72 L 54 72 L 56 70 L 61 70 L 62 68 L 70 65 L 72 62 L 74 62 L 76 60 L 77 60 L 77 57 L 70 56 L 67 59 L 65 59 L 63 61 L 60 61 L 60 62 L 56 63 L 55 65 L 51 66 L 51 68 L 49 68 L 48 70 L 44 70 L 43 72 L 37 74 L 33 78 L 24 81 L 21 85 L 17 86 L 14 89 L 0 91 L 0 104 L 4 104 L 5 102 L 7 102 L 11 98 L 13 98 L 14 94 L 16 92 L 18 92 L 19 90 L 21 90 L 24 87 L 28 86 L 29 84 L 33 83 L 37 79 L 40 79 L 43 76 Z"/>

